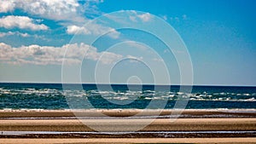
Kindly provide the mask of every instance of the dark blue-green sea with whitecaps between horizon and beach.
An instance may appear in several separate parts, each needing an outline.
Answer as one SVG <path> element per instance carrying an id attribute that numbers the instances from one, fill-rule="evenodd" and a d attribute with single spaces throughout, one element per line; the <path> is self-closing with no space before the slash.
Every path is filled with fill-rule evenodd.
<path id="1" fill-rule="evenodd" d="M 108 86 L 108 85 L 107 85 Z M 79 108 L 150 108 L 172 109 L 176 102 L 186 109 L 255 109 L 256 87 L 193 86 L 191 93 L 179 92 L 180 86 L 111 85 L 112 90 L 97 89 L 96 84 L 83 84 L 83 89 L 70 84 L 0 84 L 0 109 L 69 109 Z M 170 90 L 166 91 L 166 87 Z"/>

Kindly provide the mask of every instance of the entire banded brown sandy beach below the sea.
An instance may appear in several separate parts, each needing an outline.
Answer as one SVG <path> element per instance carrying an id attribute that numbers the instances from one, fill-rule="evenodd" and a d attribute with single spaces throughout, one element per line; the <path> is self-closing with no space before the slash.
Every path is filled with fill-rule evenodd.
<path id="1" fill-rule="evenodd" d="M 256 112 L 172 110 L 1 110 L 0 143 L 255 143 Z M 98 116 L 98 112 L 108 117 Z M 145 127 L 143 124 L 152 122 Z M 137 127 L 138 131 L 132 131 Z M 100 129 L 101 131 L 96 131 Z"/>

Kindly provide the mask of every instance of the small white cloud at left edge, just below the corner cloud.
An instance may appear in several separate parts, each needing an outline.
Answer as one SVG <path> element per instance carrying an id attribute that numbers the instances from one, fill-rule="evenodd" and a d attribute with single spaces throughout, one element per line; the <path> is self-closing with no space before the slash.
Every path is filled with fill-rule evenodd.
<path id="1" fill-rule="evenodd" d="M 36 24 L 34 20 L 27 16 L 4 16 L 0 19 L 0 27 L 7 29 L 18 27 L 20 29 L 30 29 L 32 31 L 47 30 L 48 26 Z"/>

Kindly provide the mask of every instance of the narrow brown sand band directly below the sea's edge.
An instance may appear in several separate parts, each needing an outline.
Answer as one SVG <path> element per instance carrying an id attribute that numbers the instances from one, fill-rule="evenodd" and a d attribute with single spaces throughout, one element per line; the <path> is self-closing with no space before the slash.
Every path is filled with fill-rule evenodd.
<path id="1" fill-rule="evenodd" d="M 74 114 L 75 112 L 76 114 Z M 184 111 L 172 111 L 172 110 L 139 110 L 139 109 L 102 109 L 102 110 L 0 110 L 0 118 L 67 118 L 75 117 L 76 115 L 84 115 L 88 117 L 99 117 L 98 113 L 103 113 L 110 117 L 131 117 L 137 113 L 141 113 L 140 116 L 168 116 L 171 114 L 177 114 L 182 112 L 179 118 L 219 118 L 219 117 L 242 117 L 242 118 L 256 118 L 255 110 L 184 110 Z M 143 113 L 142 113 L 143 112 Z M 84 114 L 86 113 L 86 114 Z"/>

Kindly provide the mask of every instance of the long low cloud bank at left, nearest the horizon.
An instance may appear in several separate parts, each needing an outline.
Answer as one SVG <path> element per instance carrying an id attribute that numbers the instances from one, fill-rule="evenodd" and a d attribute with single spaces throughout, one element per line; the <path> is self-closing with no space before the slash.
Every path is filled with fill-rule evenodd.
<path id="1" fill-rule="evenodd" d="M 67 53 L 66 49 L 68 49 Z M 83 57 L 85 53 L 86 55 Z M 70 65 L 80 64 L 83 58 L 110 64 L 123 57 L 111 52 L 97 52 L 96 48 L 84 43 L 66 44 L 61 47 L 29 45 L 19 48 L 0 43 L 0 60 L 10 64 L 61 65 L 64 55 L 65 62 Z M 102 55 L 104 56 L 102 57 Z"/>

